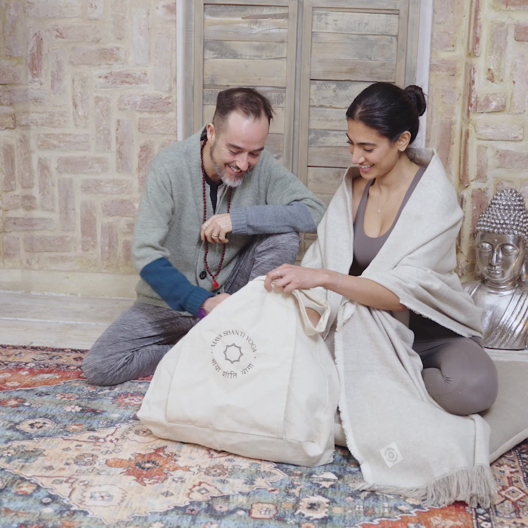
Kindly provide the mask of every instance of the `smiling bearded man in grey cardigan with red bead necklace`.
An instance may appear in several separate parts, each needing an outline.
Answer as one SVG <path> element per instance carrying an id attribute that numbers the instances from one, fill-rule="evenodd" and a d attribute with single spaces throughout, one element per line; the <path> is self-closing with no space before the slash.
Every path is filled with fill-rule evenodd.
<path id="1" fill-rule="evenodd" d="M 256 90 L 224 90 L 212 123 L 154 157 L 134 228 L 137 300 L 84 359 L 91 383 L 153 374 L 225 298 L 293 263 L 298 231 L 316 231 L 324 204 L 264 150 L 271 118 Z"/>

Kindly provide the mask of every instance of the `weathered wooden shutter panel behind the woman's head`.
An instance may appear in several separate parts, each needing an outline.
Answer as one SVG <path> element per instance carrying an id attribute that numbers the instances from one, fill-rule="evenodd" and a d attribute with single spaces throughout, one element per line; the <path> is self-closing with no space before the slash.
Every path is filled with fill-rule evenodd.
<path id="1" fill-rule="evenodd" d="M 374 81 L 414 82 L 409 4 L 417 27 L 419 2 L 414 0 L 305 0 L 297 175 L 326 203 L 350 165 L 345 114 L 354 97 Z M 417 42 L 417 32 L 409 40 Z M 305 235 L 304 250 L 314 239 Z"/>

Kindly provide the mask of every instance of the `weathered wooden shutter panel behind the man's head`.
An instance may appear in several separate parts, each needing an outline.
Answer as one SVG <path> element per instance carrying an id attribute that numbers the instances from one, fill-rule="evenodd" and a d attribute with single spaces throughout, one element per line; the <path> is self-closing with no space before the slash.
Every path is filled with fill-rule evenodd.
<path id="1" fill-rule="evenodd" d="M 297 2 L 196 2 L 194 128 L 213 117 L 216 95 L 251 86 L 276 112 L 266 148 L 291 169 Z"/>

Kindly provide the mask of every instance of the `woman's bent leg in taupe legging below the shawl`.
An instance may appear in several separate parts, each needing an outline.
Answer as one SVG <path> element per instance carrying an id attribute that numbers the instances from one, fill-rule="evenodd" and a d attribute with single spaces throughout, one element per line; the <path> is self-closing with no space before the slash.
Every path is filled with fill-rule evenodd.
<path id="1" fill-rule="evenodd" d="M 478 337 L 417 338 L 412 348 L 422 360 L 426 388 L 441 407 L 467 416 L 492 406 L 497 369 Z"/>

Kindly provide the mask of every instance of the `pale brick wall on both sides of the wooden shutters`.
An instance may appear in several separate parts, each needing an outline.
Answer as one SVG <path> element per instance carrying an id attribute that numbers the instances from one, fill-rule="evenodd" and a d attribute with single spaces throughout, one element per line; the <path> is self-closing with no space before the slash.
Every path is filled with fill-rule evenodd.
<path id="1" fill-rule="evenodd" d="M 464 275 L 497 188 L 528 197 L 528 0 L 433 5 L 427 144 L 459 190 Z M 175 0 L 0 4 L 0 289 L 133 295 L 146 166 L 176 138 L 175 11 Z"/>

